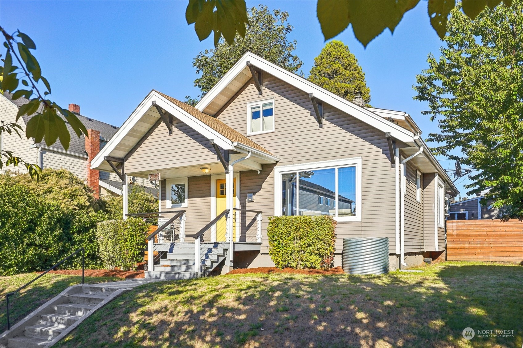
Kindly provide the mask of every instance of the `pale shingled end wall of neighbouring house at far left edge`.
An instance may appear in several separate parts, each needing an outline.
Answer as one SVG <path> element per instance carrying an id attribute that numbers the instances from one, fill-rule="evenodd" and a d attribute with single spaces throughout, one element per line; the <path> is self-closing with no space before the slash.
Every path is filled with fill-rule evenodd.
<path id="1" fill-rule="evenodd" d="M 2 94 L 0 94 L 0 121 L 4 121 L 5 123 L 15 122 L 17 113 L 18 108 Z M 32 139 L 27 139 L 25 136 L 26 125 L 24 120 L 20 118 L 17 124 L 22 127 L 22 130 L 20 131 L 21 138 L 16 133 L 11 135 L 3 133 L 1 144 L 2 149 L 13 152 L 15 156 L 20 157 L 27 163 L 38 164 L 38 149 L 31 148 L 31 145 L 34 143 L 32 142 Z M 0 173 L 4 172 L 5 170 L 12 170 L 20 173 L 27 172 L 27 169 L 24 165 L 17 167 L 4 167 L 2 170 L 0 170 Z"/>

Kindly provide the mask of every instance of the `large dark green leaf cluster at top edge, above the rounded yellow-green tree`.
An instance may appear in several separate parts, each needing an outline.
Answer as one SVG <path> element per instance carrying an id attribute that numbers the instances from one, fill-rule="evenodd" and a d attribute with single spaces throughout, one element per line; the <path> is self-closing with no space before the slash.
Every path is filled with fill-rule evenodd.
<path id="1" fill-rule="evenodd" d="M 356 38 L 367 47 L 385 28 L 394 32 L 405 12 L 414 8 L 418 2 L 419 0 L 318 0 L 317 16 L 325 41 L 352 24 Z"/>

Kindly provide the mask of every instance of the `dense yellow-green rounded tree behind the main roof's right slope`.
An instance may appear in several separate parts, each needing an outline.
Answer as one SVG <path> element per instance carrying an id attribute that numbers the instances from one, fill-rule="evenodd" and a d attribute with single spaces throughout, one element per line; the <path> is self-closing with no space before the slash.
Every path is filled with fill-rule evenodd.
<path id="1" fill-rule="evenodd" d="M 341 41 L 327 42 L 314 58 L 314 66 L 307 79 L 347 100 L 353 100 L 354 92 L 361 91 L 365 103 L 368 105 L 370 102 L 365 73 L 354 54 Z"/>

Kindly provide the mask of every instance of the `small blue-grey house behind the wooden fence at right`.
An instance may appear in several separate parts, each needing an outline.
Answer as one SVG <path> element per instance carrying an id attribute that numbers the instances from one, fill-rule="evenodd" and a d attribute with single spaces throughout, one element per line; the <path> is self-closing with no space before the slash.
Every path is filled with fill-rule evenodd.
<path id="1" fill-rule="evenodd" d="M 481 220 L 499 218 L 499 210 L 492 206 L 494 199 L 487 200 L 485 205 L 481 205 L 481 200 L 485 198 L 485 193 L 490 189 L 477 194 L 476 197 L 449 204 L 449 220 Z"/>

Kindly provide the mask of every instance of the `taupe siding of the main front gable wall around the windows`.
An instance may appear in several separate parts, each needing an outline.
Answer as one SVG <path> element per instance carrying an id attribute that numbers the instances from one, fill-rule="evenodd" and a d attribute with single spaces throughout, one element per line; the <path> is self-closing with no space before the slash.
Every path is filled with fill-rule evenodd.
<path id="1" fill-rule="evenodd" d="M 268 74 L 264 74 L 263 96 L 249 82 L 217 117 L 247 135 L 246 104 L 271 98 L 275 99 L 275 132 L 249 137 L 278 156 L 278 166 L 362 157 L 361 222 L 338 223 L 336 251 L 342 251 L 344 237 L 382 236 L 389 237 L 390 251 L 395 252 L 395 180 L 385 135 L 328 105 L 324 105 L 324 126 L 319 129 L 308 94 Z M 274 183 L 268 184 L 268 178 L 259 180 L 265 184 L 258 195 L 271 197 L 259 208 L 270 216 L 274 214 Z M 264 242 L 262 250 L 266 247 Z"/>

